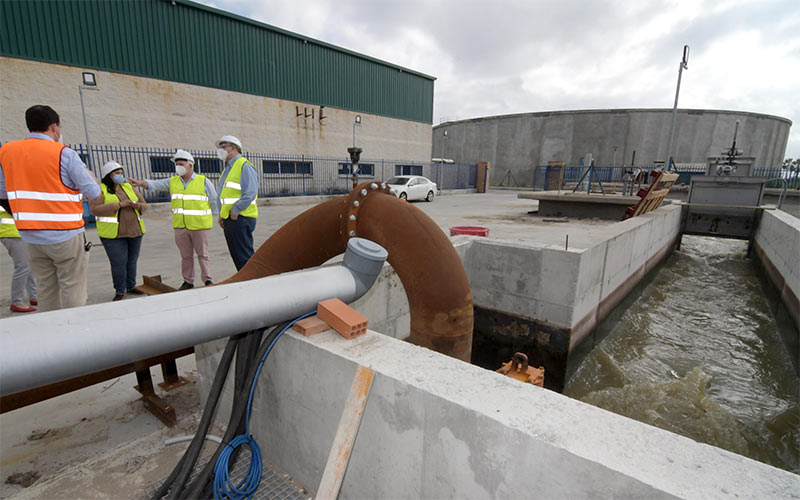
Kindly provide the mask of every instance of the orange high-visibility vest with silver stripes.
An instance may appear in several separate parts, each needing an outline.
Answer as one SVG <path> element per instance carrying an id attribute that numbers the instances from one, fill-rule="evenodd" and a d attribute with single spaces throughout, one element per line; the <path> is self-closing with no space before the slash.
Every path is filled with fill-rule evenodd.
<path id="1" fill-rule="evenodd" d="M 61 181 L 61 151 L 65 147 L 29 137 L 0 148 L 0 165 L 17 229 L 83 227 L 81 193 Z"/>

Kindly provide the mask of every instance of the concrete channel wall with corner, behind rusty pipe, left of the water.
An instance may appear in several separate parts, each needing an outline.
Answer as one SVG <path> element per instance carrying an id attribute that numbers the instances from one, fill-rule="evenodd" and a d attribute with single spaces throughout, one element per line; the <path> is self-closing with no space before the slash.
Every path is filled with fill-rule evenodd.
<path id="1" fill-rule="evenodd" d="M 469 236 L 453 241 L 470 242 L 464 265 L 476 305 L 573 328 L 643 277 L 645 264 L 680 233 L 680 220 L 680 207 L 665 205 L 598 227 L 583 249 Z"/>

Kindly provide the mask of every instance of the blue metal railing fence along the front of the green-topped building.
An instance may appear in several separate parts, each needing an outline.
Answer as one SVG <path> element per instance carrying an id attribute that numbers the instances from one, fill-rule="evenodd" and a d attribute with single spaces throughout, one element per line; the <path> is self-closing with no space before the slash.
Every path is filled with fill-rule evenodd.
<path id="1" fill-rule="evenodd" d="M 92 146 L 91 155 L 83 144 L 70 145 L 84 163 L 100 177 L 100 167 L 110 160 L 125 167 L 134 179 L 164 179 L 175 175 L 170 161 L 174 149 L 138 146 Z M 195 171 L 217 183 L 222 162 L 211 150 L 188 150 L 195 158 Z M 278 155 L 245 151 L 259 174 L 259 197 L 349 193 L 350 159 L 305 155 Z M 406 160 L 370 159 L 359 162 L 359 181 L 386 181 L 397 175 L 423 175 L 439 189 L 474 189 L 477 165 L 430 163 Z M 167 201 L 164 194 L 147 193 L 148 201 Z"/>

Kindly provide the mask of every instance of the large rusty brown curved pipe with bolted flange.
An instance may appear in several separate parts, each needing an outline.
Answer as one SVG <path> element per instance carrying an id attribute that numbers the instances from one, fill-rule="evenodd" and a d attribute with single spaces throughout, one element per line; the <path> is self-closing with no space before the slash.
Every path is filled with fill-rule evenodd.
<path id="1" fill-rule="evenodd" d="M 354 236 L 389 252 L 411 309 L 409 340 L 469 362 L 472 291 L 461 259 L 430 217 L 377 183 L 362 183 L 348 196 L 301 213 L 224 283 L 321 265 L 342 253 Z"/>

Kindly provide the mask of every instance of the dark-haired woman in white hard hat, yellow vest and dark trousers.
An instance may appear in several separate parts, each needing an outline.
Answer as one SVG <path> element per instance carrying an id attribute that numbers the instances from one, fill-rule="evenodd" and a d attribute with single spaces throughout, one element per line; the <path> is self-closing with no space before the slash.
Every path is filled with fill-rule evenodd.
<path id="1" fill-rule="evenodd" d="M 110 161 L 100 168 L 103 204 L 97 207 L 97 236 L 111 263 L 114 299 L 122 300 L 126 293 L 141 293 L 136 286 L 136 261 L 142 247 L 147 208 L 144 197 L 125 179 L 122 165 Z"/>

